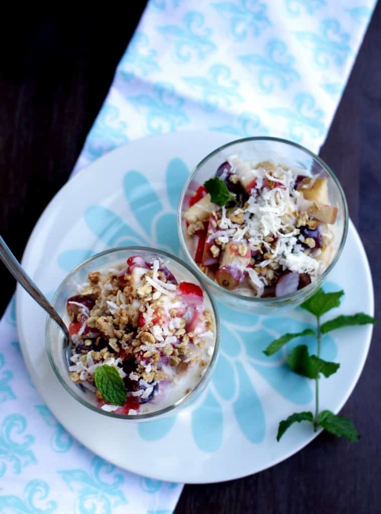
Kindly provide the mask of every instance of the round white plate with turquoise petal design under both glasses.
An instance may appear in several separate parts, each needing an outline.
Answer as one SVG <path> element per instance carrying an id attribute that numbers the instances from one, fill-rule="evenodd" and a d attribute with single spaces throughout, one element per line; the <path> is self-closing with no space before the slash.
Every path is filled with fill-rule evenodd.
<path id="1" fill-rule="evenodd" d="M 30 237 L 23 266 L 49 295 L 67 271 L 107 247 L 144 244 L 178 254 L 175 212 L 186 176 L 202 157 L 232 139 L 179 132 L 131 142 L 100 158 L 50 202 Z M 346 292 L 335 314 L 373 314 L 369 265 L 352 224 L 330 280 L 326 289 Z M 279 420 L 314 409 L 313 382 L 288 370 L 285 351 L 271 358 L 262 353 L 274 337 L 313 322 L 301 309 L 264 318 L 220 305 L 222 350 L 207 392 L 178 415 L 136 424 L 76 403 L 50 368 L 44 312 L 21 288 L 16 305 L 23 355 L 48 407 L 81 443 L 122 468 L 176 482 L 231 480 L 277 464 L 314 437 L 309 425 L 296 424 L 276 442 Z M 321 379 L 321 409 L 338 412 L 348 399 L 371 333 L 362 326 L 325 336 L 322 357 L 341 367 Z M 316 351 L 314 340 L 306 344 Z"/>

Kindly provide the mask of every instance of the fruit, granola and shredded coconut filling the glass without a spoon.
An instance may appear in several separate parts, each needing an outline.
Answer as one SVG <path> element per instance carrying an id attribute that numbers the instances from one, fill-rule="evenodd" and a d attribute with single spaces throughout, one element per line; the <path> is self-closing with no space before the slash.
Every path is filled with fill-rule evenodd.
<path id="1" fill-rule="evenodd" d="M 330 265 L 337 211 L 326 177 L 231 155 L 188 195 L 184 239 L 199 269 L 222 288 L 283 297 Z"/>

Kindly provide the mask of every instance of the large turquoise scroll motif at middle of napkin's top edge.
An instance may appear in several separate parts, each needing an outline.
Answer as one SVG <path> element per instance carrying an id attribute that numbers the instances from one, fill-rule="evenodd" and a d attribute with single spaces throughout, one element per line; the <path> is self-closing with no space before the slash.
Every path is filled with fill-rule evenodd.
<path id="1" fill-rule="evenodd" d="M 236 41 L 246 40 L 249 34 L 257 37 L 271 26 L 267 5 L 260 0 L 216 2 L 211 5 L 229 22 L 230 34 Z"/>

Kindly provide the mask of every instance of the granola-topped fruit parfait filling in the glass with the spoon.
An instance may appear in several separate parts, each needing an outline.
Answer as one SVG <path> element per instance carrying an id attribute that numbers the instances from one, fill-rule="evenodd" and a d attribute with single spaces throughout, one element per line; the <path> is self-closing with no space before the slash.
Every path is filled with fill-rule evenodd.
<path id="1" fill-rule="evenodd" d="M 70 379 L 96 395 L 102 411 L 117 415 L 176 405 L 214 360 L 208 294 L 180 267 L 169 269 L 158 252 L 147 254 L 89 272 L 66 300 Z"/>

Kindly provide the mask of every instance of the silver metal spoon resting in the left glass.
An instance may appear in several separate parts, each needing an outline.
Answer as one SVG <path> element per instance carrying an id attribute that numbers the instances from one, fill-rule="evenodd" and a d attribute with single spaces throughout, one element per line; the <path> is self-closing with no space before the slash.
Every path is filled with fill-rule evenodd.
<path id="1" fill-rule="evenodd" d="M 29 277 L 29 275 L 25 272 L 25 270 L 21 267 L 19 262 L 17 262 L 15 256 L 10 251 L 3 237 L 0 235 L 0 260 L 3 261 L 5 266 L 11 272 L 13 277 L 19 282 L 20 285 L 24 287 L 27 293 L 35 300 L 41 307 L 46 310 L 48 315 L 55 320 L 58 326 L 61 328 L 64 333 L 64 342 L 66 345 L 66 361 L 68 366 L 71 365 L 70 362 L 70 346 L 71 340 L 69 331 L 67 326 L 61 316 L 58 314 L 57 310 L 53 308 L 47 298 L 43 295 L 40 289 L 35 285 L 33 280 Z"/>

